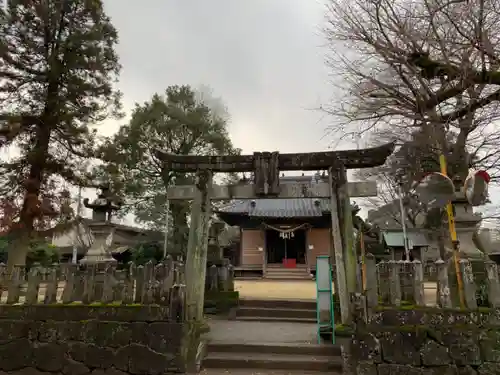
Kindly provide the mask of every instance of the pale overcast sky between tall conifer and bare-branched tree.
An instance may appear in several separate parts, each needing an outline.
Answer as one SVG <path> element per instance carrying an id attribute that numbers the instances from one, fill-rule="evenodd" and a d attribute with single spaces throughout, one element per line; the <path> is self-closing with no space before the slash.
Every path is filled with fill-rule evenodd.
<path id="1" fill-rule="evenodd" d="M 126 107 L 173 84 L 210 86 L 236 147 L 321 151 L 331 97 L 322 0 L 104 0 L 120 37 Z M 118 124 L 106 124 L 111 134 Z"/>

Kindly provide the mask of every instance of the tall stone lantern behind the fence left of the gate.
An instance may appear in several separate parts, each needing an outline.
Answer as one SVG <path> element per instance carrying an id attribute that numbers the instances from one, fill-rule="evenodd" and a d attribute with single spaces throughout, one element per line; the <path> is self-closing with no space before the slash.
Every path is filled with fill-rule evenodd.
<path id="1" fill-rule="evenodd" d="M 92 222 L 89 228 L 94 237 L 92 245 L 80 260 L 80 263 L 85 265 L 116 263 L 116 259 L 111 254 L 111 244 L 115 233 L 115 225 L 111 223 L 111 217 L 113 212 L 121 208 L 122 203 L 112 197 L 108 185 L 100 186 L 100 190 L 101 192 L 92 203 L 89 203 L 88 198 L 83 200 L 84 206 L 92 209 Z"/>

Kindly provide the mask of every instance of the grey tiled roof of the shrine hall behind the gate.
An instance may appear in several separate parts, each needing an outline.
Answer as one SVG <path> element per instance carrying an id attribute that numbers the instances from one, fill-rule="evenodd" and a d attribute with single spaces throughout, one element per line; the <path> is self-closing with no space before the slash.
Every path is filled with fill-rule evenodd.
<path id="1" fill-rule="evenodd" d="M 255 202 L 252 204 L 252 202 Z M 321 217 L 329 213 L 329 199 L 289 198 L 289 199 L 244 199 L 236 200 L 221 207 L 218 213 L 241 214 L 250 217 Z"/>

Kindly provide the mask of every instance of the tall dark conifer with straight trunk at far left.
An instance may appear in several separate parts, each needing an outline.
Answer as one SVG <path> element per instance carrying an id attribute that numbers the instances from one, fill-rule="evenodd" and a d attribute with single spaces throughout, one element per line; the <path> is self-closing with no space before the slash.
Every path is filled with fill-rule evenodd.
<path id="1" fill-rule="evenodd" d="M 0 164 L 0 196 L 19 201 L 17 238 L 61 216 L 52 193 L 62 181 L 89 183 L 89 125 L 119 110 L 116 44 L 100 0 L 10 0 L 0 9 L 0 147 L 19 151 Z M 9 265 L 24 264 L 25 249 L 18 243 Z"/>

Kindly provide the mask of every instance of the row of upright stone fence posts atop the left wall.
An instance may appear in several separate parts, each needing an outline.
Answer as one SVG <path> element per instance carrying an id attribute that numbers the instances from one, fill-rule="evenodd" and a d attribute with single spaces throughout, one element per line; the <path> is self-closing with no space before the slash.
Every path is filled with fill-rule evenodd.
<path id="1" fill-rule="evenodd" d="M 0 264 L 0 291 L 4 304 L 157 304 L 170 306 L 177 320 L 183 318 L 184 265 L 167 257 L 164 262 L 118 270 L 113 264 L 54 264 L 52 267 Z M 173 316 L 172 316 L 173 317 Z"/>

